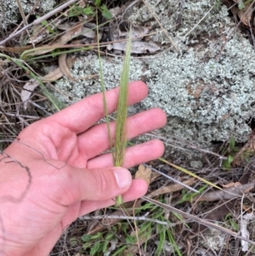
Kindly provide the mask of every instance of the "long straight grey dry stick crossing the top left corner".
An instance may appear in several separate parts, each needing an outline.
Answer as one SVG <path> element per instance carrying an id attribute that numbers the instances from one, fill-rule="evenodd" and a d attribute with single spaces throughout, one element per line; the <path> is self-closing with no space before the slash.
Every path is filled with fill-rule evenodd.
<path id="1" fill-rule="evenodd" d="M 3 45 L 3 43 L 6 43 L 9 40 L 11 40 L 12 38 L 19 36 L 23 31 L 26 31 L 27 29 L 31 28 L 31 26 L 36 26 L 36 25 L 41 24 L 41 22 L 43 20 L 47 20 L 49 17 L 53 16 L 54 14 L 58 13 L 62 9 L 65 9 L 66 7 L 71 5 L 71 3 L 76 3 L 77 1 L 79 1 L 79 0 L 70 0 L 70 1 L 60 5 L 58 8 L 50 11 L 48 14 L 45 14 L 41 18 L 34 20 L 31 24 L 24 26 L 22 29 L 20 29 L 20 31 L 17 31 L 14 34 L 9 35 L 6 39 L 4 39 L 2 42 L 0 42 L 0 45 Z"/>

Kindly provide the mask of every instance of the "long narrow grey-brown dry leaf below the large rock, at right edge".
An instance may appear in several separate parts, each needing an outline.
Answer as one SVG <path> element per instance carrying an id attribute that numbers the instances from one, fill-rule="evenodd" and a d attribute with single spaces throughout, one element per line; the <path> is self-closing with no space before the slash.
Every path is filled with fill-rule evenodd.
<path id="1" fill-rule="evenodd" d="M 233 185 L 222 191 L 212 191 L 203 194 L 202 196 L 195 196 L 194 201 L 217 201 L 217 200 L 230 200 L 236 196 L 242 196 L 245 193 L 248 193 L 254 188 L 254 183 L 249 183 L 245 185 Z"/>

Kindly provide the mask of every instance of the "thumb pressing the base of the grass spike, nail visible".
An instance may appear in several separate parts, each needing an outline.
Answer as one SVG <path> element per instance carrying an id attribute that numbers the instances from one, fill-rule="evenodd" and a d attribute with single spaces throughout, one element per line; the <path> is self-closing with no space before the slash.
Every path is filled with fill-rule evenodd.
<path id="1" fill-rule="evenodd" d="M 65 206 L 83 200 L 111 199 L 128 191 L 132 184 L 132 176 L 125 168 L 82 169 L 65 165 L 54 174 L 57 180 L 51 179 L 52 185 L 58 187 L 54 189 L 55 200 Z"/>

